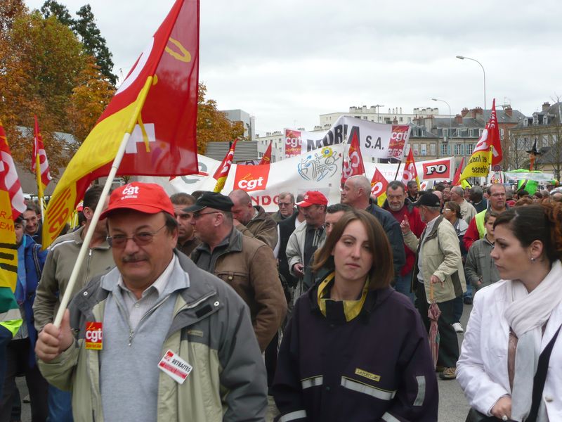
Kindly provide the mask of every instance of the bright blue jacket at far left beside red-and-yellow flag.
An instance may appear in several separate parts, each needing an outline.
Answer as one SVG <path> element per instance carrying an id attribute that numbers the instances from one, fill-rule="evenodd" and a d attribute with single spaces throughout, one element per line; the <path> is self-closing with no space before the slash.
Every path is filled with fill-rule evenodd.
<path id="1" fill-rule="evenodd" d="M 39 284 L 39 280 L 41 279 L 41 271 L 43 271 L 45 265 L 47 251 L 41 250 L 41 245 L 35 243 L 33 238 L 28 234 L 23 236 L 22 243 L 23 242 L 25 242 L 23 258 L 25 262 L 25 291 L 23 291 L 22 281 L 18 274 L 18 283 L 15 286 L 15 298 L 18 300 L 20 308 L 22 308 L 22 316 L 31 341 L 30 365 L 33 366 L 35 364 L 35 341 L 37 340 L 37 331 L 35 330 L 33 319 L 33 302 L 35 300 L 37 284 Z"/>

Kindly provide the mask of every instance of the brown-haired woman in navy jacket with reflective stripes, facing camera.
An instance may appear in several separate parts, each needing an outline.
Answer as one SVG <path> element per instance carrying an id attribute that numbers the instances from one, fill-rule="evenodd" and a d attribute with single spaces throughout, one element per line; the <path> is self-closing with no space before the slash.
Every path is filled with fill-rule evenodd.
<path id="1" fill-rule="evenodd" d="M 390 287 L 392 252 L 377 219 L 346 212 L 315 262 L 327 276 L 297 300 L 277 360 L 279 421 L 436 421 L 426 330 Z"/>

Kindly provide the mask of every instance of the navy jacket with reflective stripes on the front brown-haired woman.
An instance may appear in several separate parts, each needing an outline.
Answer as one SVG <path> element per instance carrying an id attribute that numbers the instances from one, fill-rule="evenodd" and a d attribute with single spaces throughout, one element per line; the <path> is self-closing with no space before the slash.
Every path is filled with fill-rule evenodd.
<path id="1" fill-rule="evenodd" d="M 283 421 L 437 421 L 426 329 L 404 295 L 370 290 L 346 322 L 341 302 L 320 312 L 316 284 L 293 312 L 273 383 Z"/>

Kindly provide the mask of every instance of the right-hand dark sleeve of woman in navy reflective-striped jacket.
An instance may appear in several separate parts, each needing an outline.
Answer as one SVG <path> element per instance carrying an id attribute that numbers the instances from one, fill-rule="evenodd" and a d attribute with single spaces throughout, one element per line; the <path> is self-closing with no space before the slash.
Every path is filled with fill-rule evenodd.
<path id="1" fill-rule="evenodd" d="M 412 309 L 412 326 L 400 353 L 400 387 L 382 421 L 437 421 L 439 391 L 424 324 Z"/>

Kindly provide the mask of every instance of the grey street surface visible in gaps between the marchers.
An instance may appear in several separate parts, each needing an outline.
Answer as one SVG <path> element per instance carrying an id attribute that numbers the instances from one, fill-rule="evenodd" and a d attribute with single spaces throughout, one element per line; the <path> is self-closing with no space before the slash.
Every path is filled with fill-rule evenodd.
<path id="1" fill-rule="evenodd" d="M 464 305 L 464 313 L 462 315 L 462 326 L 466 328 L 466 321 L 469 319 L 472 306 Z M 462 343 L 462 335 L 459 335 L 459 347 Z M 457 381 L 441 381 L 439 385 L 439 422 L 464 422 L 466 414 L 469 413 L 469 405 L 462 394 L 462 390 Z M 21 397 L 27 395 L 27 386 L 25 378 L 18 378 L 18 387 L 20 388 Z M 271 397 L 270 397 L 271 398 Z M 273 421 L 273 416 L 277 414 L 273 400 L 270 400 L 267 421 Z M 31 410 L 29 404 L 22 404 L 22 422 L 31 422 Z"/>

